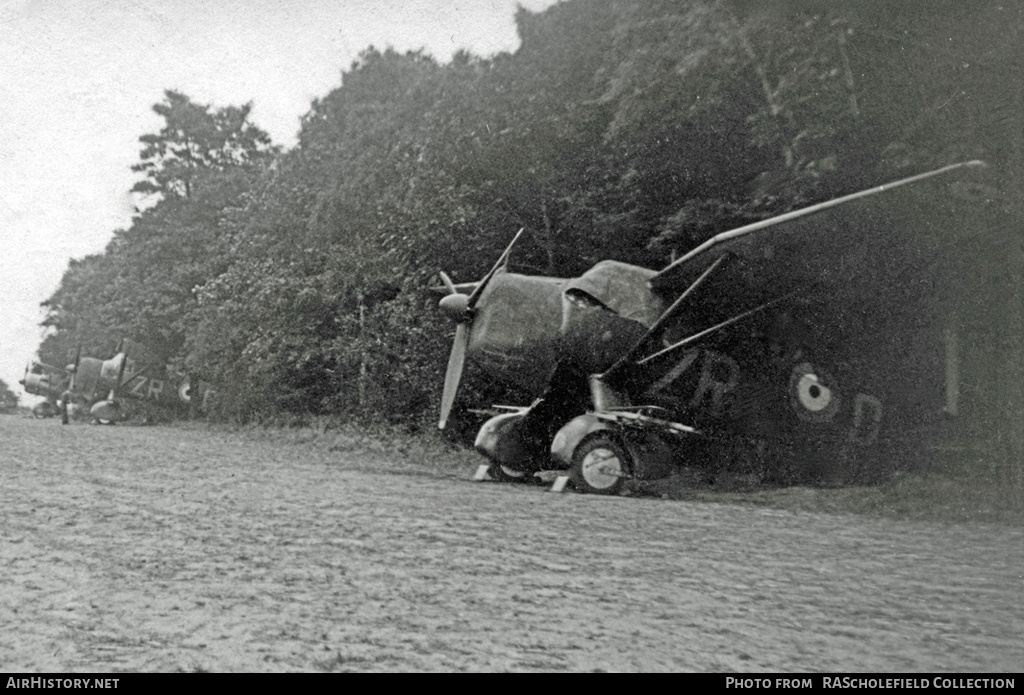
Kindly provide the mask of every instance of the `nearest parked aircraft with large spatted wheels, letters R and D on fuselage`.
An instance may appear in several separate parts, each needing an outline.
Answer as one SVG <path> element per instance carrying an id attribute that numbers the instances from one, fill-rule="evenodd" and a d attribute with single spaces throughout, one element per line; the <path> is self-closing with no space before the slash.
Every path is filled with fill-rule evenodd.
<path id="1" fill-rule="evenodd" d="M 614 493 L 722 462 L 780 480 L 871 477 L 955 412 L 943 316 L 963 298 L 937 278 L 965 272 L 971 228 L 949 221 L 972 219 L 958 193 L 983 168 L 755 222 L 659 271 L 602 261 L 579 277 L 522 275 L 506 269 L 510 245 L 477 283 L 441 273 L 457 329 L 439 426 L 470 359 L 538 395 L 495 406 L 476 437 L 498 480 L 567 470 L 578 489 Z"/>

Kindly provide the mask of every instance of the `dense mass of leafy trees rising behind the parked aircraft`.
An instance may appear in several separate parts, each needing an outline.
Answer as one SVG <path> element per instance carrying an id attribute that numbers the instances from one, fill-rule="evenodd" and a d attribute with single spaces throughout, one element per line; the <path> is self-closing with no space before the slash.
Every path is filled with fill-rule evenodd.
<path id="1" fill-rule="evenodd" d="M 514 268 L 570 275 L 658 267 L 732 225 L 969 158 L 1013 190 L 1015 6 L 765 7 L 571 0 L 520 9 L 515 54 L 370 48 L 288 151 L 248 105 L 169 91 L 133 168 L 153 204 L 72 262 L 40 356 L 106 356 L 128 336 L 218 383 L 227 416 L 415 425 L 451 340 L 437 271 L 475 279 L 521 226 Z"/>

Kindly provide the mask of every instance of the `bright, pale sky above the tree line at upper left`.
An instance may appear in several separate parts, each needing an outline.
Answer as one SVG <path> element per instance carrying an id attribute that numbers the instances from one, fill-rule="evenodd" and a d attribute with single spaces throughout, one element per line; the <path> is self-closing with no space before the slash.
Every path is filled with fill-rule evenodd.
<path id="1" fill-rule="evenodd" d="M 556 0 L 0 0 L 0 379 L 42 340 L 39 304 L 68 261 L 131 223 L 143 133 L 165 89 L 254 104 L 286 147 L 312 99 L 374 45 L 441 61 L 518 47 L 517 5 Z M 99 355 L 97 355 L 99 356 Z M 109 356 L 109 355 L 101 355 Z"/>

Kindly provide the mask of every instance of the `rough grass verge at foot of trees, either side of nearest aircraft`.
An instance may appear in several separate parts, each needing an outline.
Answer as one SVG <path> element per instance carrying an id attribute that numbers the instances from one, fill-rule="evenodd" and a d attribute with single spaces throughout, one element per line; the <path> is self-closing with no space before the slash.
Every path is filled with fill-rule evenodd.
<path id="1" fill-rule="evenodd" d="M 411 434 L 328 418 L 313 419 L 303 427 L 206 423 L 181 423 L 177 427 L 305 447 L 346 466 L 368 470 L 463 478 L 483 461 L 471 449 L 434 432 Z M 684 470 L 664 480 L 635 484 L 631 492 L 791 511 L 1024 525 L 1024 467 L 1013 468 L 984 457 L 945 462 L 925 472 L 896 473 L 874 486 L 770 488 L 741 478 L 712 485 L 703 476 Z"/>

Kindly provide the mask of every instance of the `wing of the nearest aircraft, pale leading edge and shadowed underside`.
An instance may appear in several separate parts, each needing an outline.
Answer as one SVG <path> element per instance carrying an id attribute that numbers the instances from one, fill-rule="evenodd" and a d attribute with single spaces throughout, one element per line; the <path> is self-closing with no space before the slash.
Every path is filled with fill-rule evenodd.
<path id="1" fill-rule="evenodd" d="M 686 288 L 729 255 L 753 268 L 748 281 L 761 287 L 885 287 L 955 254 L 986 228 L 978 216 L 987 189 L 976 180 L 984 168 L 979 161 L 953 164 L 722 232 L 650 286 Z"/>

